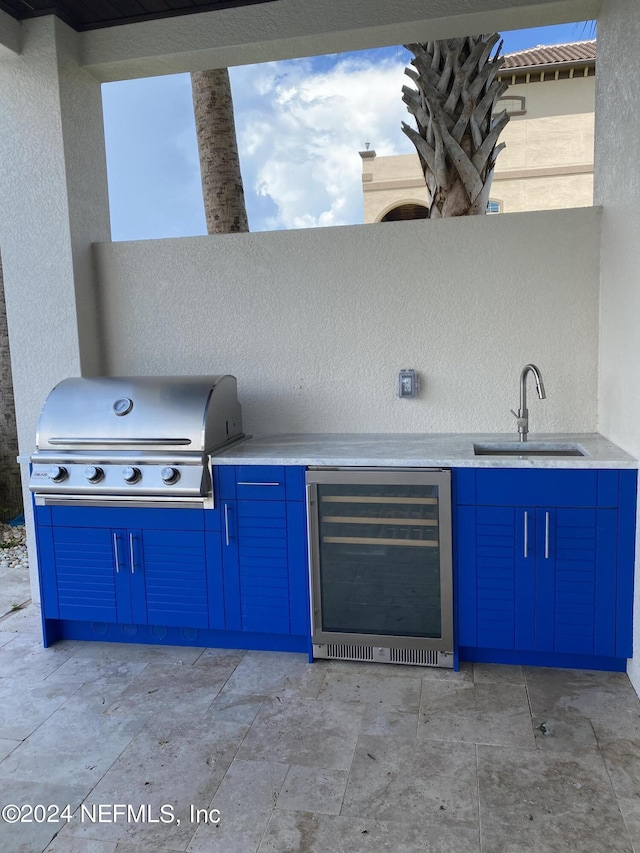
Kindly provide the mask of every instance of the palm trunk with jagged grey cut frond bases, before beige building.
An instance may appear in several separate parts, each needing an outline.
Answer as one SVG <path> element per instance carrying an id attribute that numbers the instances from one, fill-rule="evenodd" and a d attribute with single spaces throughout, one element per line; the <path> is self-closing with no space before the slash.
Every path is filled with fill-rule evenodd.
<path id="1" fill-rule="evenodd" d="M 498 47 L 491 57 L 496 43 Z M 429 216 L 486 213 L 498 137 L 509 121 L 494 115 L 507 83 L 495 79 L 503 59 L 498 33 L 405 45 L 414 58 L 405 69 L 418 87 L 402 100 L 418 129 L 402 130 L 418 152 L 429 190 Z"/>

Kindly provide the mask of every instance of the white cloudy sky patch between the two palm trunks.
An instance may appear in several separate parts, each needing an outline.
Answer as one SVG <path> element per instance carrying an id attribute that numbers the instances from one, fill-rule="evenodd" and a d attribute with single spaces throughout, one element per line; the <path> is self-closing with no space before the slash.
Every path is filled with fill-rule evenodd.
<path id="1" fill-rule="evenodd" d="M 412 150 L 400 129 L 403 69 L 388 51 L 232 69 L 252 230 L 362 221 L 365 141 L 380 155 Z"/>

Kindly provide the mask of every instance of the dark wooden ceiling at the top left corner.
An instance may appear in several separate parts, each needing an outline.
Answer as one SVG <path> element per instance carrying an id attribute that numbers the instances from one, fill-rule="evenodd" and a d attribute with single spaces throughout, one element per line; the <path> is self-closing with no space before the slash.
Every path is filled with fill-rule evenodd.
<path id="1" fill-rule="evenodd" d="M 0 0 L 0 9 L 19 21 L 57 15 L 74 30 L 83 32 L 273 2 L 277 0 Z"/>

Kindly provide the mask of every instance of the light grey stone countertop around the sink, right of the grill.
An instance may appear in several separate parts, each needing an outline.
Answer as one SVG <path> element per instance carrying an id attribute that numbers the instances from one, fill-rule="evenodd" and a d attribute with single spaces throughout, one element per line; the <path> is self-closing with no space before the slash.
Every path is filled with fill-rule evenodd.
<path id="1" fill-rule="evenodd" d="M 517 433 L 284 433 L 255 435 L 214 456 L 215 465 L 394 468 L 637 468 L 599 433 L 530 433 L 517 456 L 475 456 L 474 444 L 518 443 Z M 569 443 L 585 456 L 526 456 L 538 442 Z"/>

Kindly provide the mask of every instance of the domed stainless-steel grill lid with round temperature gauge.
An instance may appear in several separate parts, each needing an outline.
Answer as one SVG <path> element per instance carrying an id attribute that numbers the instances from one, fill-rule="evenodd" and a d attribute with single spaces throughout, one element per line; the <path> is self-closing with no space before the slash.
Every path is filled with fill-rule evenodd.
<path id="1" fill-rule="evenodd" d="M 47 397 L 39 451 L 211 452 L 242 435 L 234 376 L 100 376 Z"/>

